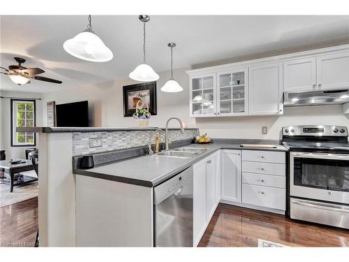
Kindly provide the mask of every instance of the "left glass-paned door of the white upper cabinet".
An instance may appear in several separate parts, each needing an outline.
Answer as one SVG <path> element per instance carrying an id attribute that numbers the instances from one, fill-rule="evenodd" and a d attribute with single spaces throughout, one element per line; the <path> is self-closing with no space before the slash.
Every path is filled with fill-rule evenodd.
<path id="1" fill-rule="evenodd" d="M 191 117 L 214 117 L 216 115 L 216 74 L 190 78 Z"/>

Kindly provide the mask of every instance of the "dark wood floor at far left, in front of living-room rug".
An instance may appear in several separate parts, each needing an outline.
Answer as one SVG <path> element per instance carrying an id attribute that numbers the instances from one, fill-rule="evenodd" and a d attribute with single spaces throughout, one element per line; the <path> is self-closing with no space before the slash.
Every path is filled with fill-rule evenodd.
<path id="1" fill-rule="evenodd" d="M 34 247 L 37 231 L 37 197 L 0 208 L 1 247 Z"/>

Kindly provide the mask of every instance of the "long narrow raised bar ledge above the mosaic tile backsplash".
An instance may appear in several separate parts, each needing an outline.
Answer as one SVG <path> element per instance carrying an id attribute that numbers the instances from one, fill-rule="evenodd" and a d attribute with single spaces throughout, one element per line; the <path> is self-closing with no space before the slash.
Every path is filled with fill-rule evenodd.
<path id="1" fill-rule="evenodd" d="M 156 126 L 130 126 L 130 127 L 48 127 L 48 126 L 34 126 L 34 127 L 17 127 L 17 132 L 30 133 L 80 133 L 80 132 L 110 132 L 110 131 L 152 131 L 156 130 Z M 165 128 L 161 128 L 165 130 Z M 185 130 L 196 130 L 197 127 L 186 127 Z M 168 128 L 168 130 L 179 130 L 179 128 Z"/>

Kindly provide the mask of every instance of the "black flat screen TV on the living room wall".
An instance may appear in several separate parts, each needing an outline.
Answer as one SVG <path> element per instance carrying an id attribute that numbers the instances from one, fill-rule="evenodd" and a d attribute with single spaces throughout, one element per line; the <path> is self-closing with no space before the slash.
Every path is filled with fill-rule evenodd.
<path id="1" fill-rule="evenodd" d="M 56 125 L 69 127 L 89 126 L 89 102 L 56 105 Z"/>

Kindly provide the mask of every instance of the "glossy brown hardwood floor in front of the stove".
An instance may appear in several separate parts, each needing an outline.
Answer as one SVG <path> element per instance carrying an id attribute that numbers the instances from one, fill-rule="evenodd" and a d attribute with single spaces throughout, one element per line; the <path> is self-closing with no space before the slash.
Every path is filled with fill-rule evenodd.
<path id="1" fill-rule="evenodd" d="M 349 247 L 349 230 L 225 204 L 218 205 L 198 246 L 257 247 L 258 238 L 292 247 Z"/>

